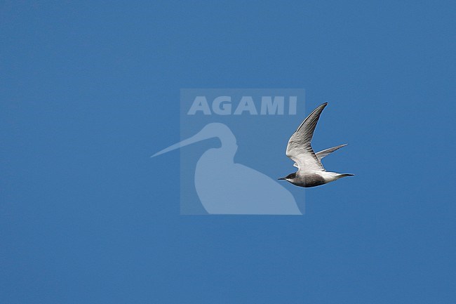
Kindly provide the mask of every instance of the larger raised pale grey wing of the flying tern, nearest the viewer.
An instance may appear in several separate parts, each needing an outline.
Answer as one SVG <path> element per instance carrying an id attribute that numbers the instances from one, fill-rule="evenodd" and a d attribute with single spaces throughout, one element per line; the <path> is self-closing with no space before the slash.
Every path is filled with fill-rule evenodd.
<path id="1" fill-rule="evenodd" d="M 316 123 L 326 105 L 328 103 L 323 103 L 314 112 L 311 112 L 288 140 L 286 155 L 296 162 L 299 171 L 326 171 L 310 145 Z"/>

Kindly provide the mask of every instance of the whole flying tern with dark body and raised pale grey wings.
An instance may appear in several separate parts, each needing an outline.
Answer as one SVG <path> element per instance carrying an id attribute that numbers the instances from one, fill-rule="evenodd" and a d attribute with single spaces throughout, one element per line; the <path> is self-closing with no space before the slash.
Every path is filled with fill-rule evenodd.
<path id="1" fill-rule="evenodd" d="M 329 149 L 317 153 L 314 152 L 310 145 L 312 137 L 314 136 L 316 123 L 326 105 L 328 105 L 328 103 L 323 103 L 323 105 L 318 106 L 314 112 L 311 112 L 309 116 L 302 121 L 302 124 L 297 128 L 296 132 L 293 133 L 290 140 L 288 140 L 286 156 L 295 161 L 293 166 L 297 167 L 297 171 L 288 174 L 288 176 L 284 178 L 279 178 L 279 180 L 287 180 L 293 185 L 300 187 L 315 187 L 333 182 L 339 178 L 354 175 L 349 173 L 328 172 L 321 164 L 321 159 L 323 159 L 323 157 L 326 157 L 328 154 L 347 144 L 330 147 Z"/>

